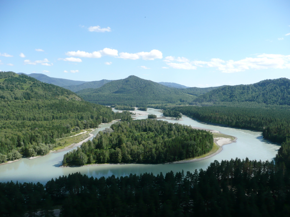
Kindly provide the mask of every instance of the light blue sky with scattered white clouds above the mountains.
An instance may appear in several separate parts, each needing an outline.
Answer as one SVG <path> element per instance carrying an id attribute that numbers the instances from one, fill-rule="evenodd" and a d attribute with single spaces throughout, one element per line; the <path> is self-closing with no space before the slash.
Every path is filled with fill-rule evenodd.
<path id="1" fill-rule="evenodd" d="M 0 70 L 189 87 L 290 78 L 290 1 L 0 1 Z"/>

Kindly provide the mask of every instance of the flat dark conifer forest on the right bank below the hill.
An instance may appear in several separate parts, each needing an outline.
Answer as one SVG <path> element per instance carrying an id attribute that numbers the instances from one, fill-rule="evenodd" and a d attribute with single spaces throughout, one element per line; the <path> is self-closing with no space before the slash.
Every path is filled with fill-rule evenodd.
<path id="1" fill-rule="evenodd" d="M 262 131 L 264 138 L 273 142 L 282 143 L 290 138 L 288 109 L 224 106 L 177 106 L 171 109 L 204 122 Z"/>

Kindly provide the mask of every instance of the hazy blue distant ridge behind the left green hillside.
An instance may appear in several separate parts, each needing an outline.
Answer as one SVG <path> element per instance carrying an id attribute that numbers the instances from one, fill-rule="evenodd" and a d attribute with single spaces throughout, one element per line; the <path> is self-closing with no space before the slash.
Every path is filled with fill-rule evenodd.
<path id="1" fill-rule="evenodd" d="M 68 86 L 68 85 L 79 85 L 86 82 L 86 81 L 74 81 L 74 80 L 69 80 L 69 79 L 64 79 L 64 78 L 51 78 L 47 75 L 40 74 L 40 73 L 31 73 L 29 75 L 25 73 L 17 73 L 17 74 L 19 75 L 24 74 L 32 78 L 36 78 L 39 81 L 42 81 L 48 84 L 54 84 L 59 87 Z"/>

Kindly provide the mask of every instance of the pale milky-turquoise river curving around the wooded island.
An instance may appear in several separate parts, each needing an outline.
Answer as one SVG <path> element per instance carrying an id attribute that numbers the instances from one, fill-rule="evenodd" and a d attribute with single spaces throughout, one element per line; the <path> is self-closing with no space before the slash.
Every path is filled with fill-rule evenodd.
<path id="1" fill-rule="evenodd" d="M 117 110 L 114 110 L 117 112 Z M 134 111 L 140 112 L 138 110 Z M 158 109 L 148 108 L 147 113 L 155 114 L 157 117 L 161 117 L 162 113 L 158 112 Z M 147 115 L 139 116 L 137 119 L 146 118 Z M 59 176 L 68 175 L 74 172 L 81 172 L 93 177 L 101 176 L 126 176 L 130 173 L 141 174 L 145 172 L 152 172 L 154 175 L 162 172 L 179 172 L 181 170 L 193 172 L 195 169 L 206 169 L 214 160 L 230 160 L 236 157 L 245 159 L 248 157 L 250 160 L 262 160 L 271 161 L 280 146 L 272 143 L 266 139 L 263 139 L 262 133 L 253 130 L 243 130 L 231 127 L 215 126 L 198 122 L 189 117 L 183 115 L 182 120 L 167 120 L 172 123 L 186 124 L 201 128 L 207 128 L 212 130 L 218 130 L 221 133 L 232 135 L 237 137 L 235 143 L 224 145 L 222 151 L 217 155 L 204 159 L 201 161 L 195 161 L 192 163 L 180 163 L 180 164 L 123 164 L 123 165 L 100 165 L 100 166 L 86 166 L 86 167 L 73 167 L 73 168 L 59 168 L 63 156 L 68 151 L 59 153 L 50 153 L 44 157 L 35 159 L 23 158 L 17 162 L 9 163 L 0 166 L 0 182 L 7 181 L 19 181 L 19 182 L 40 182 L 45 184 L 48 180 L 54 179 Z M 110 127 L 111 124 L 102 124 L 101 128 L 96 129 L 93 134 L 96 135 L 100 130 L 104 130 Z M 90 138 L 90 140 L 92 140 Z"/>

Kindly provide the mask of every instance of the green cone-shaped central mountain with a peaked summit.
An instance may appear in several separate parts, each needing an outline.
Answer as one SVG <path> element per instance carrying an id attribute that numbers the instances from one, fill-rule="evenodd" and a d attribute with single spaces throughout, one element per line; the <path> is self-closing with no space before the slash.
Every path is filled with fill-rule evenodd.
<path id="1" fill-rule="evenodd" d="M 182 93 L 180 89 L 136 76 L 111 81 L 98 89 L 84 89 L 77 94 L 84 100 L 97 104 L 128 104 L 138 107 L 147 104 L 191 102 L 194 99 L 193 96 Z"/>

